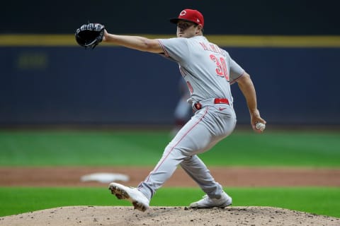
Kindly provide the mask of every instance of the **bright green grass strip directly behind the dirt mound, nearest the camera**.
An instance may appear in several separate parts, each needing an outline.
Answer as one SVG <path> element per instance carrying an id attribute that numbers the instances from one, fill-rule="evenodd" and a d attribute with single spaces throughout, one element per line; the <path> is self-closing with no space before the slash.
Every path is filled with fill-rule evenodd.
<path id="1" fill-rule="evenodd" d="M 340 218 L 339 188 L 226 188 L 233 206 L 273 206 Z M 188 206 L 203 192 L 190 188 L 162 188 L 151 206 Z M 131 206 L 103 188 L 0 188 L 0 216 L 61 206 Z"/>

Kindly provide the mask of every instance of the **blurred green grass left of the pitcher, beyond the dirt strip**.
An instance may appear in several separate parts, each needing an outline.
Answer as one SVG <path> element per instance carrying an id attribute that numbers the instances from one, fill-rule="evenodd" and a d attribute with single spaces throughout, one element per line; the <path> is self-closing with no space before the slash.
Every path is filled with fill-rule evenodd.
<path id="1" fill-rule="evenodd" d="M 153 165 L 167 139 L 157 132 L 0 132 L 0 165 Z"/>

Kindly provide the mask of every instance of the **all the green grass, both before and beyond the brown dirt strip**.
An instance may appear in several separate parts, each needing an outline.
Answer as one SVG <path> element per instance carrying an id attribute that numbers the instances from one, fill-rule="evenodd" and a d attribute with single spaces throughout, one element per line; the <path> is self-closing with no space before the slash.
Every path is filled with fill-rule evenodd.
<path id="1" fill-rule="evenodd" d="M 154 166 L 169 131 L 0 131 L 0 167 Z M 235 131 L 200 155 L 208 166 L 340 167 L 340 131 Z M 234 206 L 340 217 L 340 188 L 230 188 Z M 163 188 L 152 206 L 188 206 L 200 189 Z M 0 187 L 0 215 L 59 206 L 130 206 L 101 188 Z"/>

